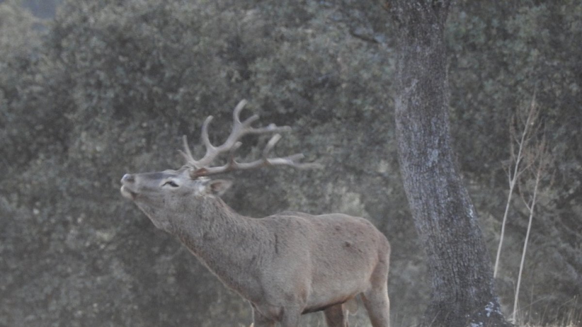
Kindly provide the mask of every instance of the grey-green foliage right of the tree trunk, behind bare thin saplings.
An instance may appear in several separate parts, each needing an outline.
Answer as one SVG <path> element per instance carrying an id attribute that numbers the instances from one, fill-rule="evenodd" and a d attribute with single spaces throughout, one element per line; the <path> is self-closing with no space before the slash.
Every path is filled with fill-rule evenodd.
<path id="1" fill-rule="evenodd" d="M 502 162 L 509 159 L 510 117 L 527 106 L 535 91 L 542 132 L 552 148 L 552 186 L 542 193 L 543 202 L 533 225 L 534 249 L 526 258 L 527 286 L 531 293 L 520 303 L 533 321 L 553 321 L 571 310 L 582 285 L 582 262 L 573 255 L 579 248 L 579 205 L 582 124 L 582 6 L 576 1 L 558 3 L 520 1 L 480 3 L 464 1 L 450 14 L 450 83 L 452 116 L 460 163 L 469 183 L 488 186 L 475 190 L 481 215 L 501 219 L 508 182 Z M 515 282 L 519 243 L 527 215 L 520 200 L 513 205 L 509 228 L 513 244 L 502 257 L 502 284 Z M 576 222 L 577 221 L 577 222 Z M 492 244 L 501 229 L 489 225 Z M 559 249 L 559 250 L 558 250 Z M 528 250 L 530 251 L 530 250 Z M 556 269 L 555 267 L 560 267 Z M 510 303 L 513 286 L 501 287 L 502 300 Z M 569 305 L 564 305 L 569 303 Z M 508 308 L 512 310 L 512 308 Z M 522 310 L 524 308 L 522 307 Z M 579 309 L 577 309 L 579 310 Z"/>

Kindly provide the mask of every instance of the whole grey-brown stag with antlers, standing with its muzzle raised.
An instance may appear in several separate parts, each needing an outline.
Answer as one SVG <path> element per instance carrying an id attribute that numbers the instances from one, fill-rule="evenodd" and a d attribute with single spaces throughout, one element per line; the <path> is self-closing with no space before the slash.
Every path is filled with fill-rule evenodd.
<path id="1" fill-rule="evenodd" d="M 274 124 L 251 127 L 257 115 L 241 122 L 245 103 L 236 106 L 234 126 L 224 144 L 210 143 L 209 116 L 202 127 L 203 158 L 192 157 L 184 137 L 186 165 L 178 170 L 126 174 L 121 193 L 251 303 L 254 327 L 272 327 L 277 322 L 297 327 L 301 314 L 315 311 L 324 311 L 328 326 L 345 327 L 345 303 L 359 294 L 372 326 L 389 326 L 390 245 L 370 222 L 343 214 L 282 212 L 262 219 L 239 215 L 220 198 L 231 182 L 206 177 L 262 166 L 314 166 L 299 162 L 301 154 L 267 157 L 279 134 L 268 141 L 261 159 L 235 161 L 242 136 L 290 129 Z M 230 152 L 225 165 L 210 166 L 225 152 Z"/>

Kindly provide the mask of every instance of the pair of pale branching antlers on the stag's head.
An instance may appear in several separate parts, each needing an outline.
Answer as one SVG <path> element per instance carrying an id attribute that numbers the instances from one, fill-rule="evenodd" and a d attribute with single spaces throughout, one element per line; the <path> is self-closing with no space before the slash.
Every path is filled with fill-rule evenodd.
<path id="1" fill-rule="evenodd" d="M 250 116 L 244 122 L 240 121 L 240 112 L 246 105 L 247 101 L 242 100 L 239 104 L 236 105 L 235 110 L 233 112 L 233 126 L 232 131 L 230 131 L 230 135 L 226 138 L 225 143 L 215 147 L 210 143 L 210 138 L 208 137 L 208 125 L 212 120 L 212 116 L 208 116 L 206 120 L 204 120 L 204 124 L 202 125 L 202 141 L 204 146 L 206 147 L 206 153 L 204 157 L 196 160 L 192 156 L 192 152 L 190 152 L 190 148 L 188 146 L 188 141 L 186 136 L 183 137 L 183 144 L 184 144 L 184 151 L 180 151 L 184 158 L 186 158 L 186 165 L 190 166 L 190 177 L 196 178 L 200 176 L 208 176 L 208 175 L 215 175 L 218 173 L 223 172 L 230 172 L 232 170 L 243 170 L 243 169 L 254 169 L 260 168 L 264 166 L 275 166 L 275 165 L 286 165 L 286 166 L 293 166 L 299 169 L 307 169 L 307 168 L 319 168 L 320 165 L 318 163 L 305 163 L 299 162 L 300 159 L 303 159 L 303 154 L 294 154 L 289 155 L 288 157 L 282 158 L 268 158 L 267 155 L 275 146 L 275 144 L 281 139 L 281 134 L 275 134 L 271 137 L 268 141 L 267 145 L 265 145 L 264 150 L 262 151 L 262 158 L 257 159 L 251 162 L 237 162 L 235 161 L 235 151 L 242 145 L 239 139 L 246 134 L 265 134 L 265 133 L 275 133 L 275 132 L 283 132 L 291 130 L 289 126 L 276 126 L 275 124 L 270 124 L 265 127 L 251 127 L 251 123 L 258 119 L 257 115 Z M 229 161 L 222 166 L 217 167 L 210 167 L 209 165 L 218 157 L 218 155 L 224 152 L 230 152 Z"/>

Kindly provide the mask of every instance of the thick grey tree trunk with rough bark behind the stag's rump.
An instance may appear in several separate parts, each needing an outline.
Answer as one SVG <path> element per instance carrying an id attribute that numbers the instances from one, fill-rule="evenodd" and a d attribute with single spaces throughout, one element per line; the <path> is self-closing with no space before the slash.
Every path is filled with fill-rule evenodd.
<path id="1" fill-rule="evenodd" d="M 490 258 L 452 150 L 443 33 L 449 1 L 387 5 L 398 26 L 400 170 L 432 282 L 423 325 L 510 326 L 494 294 Z"/>

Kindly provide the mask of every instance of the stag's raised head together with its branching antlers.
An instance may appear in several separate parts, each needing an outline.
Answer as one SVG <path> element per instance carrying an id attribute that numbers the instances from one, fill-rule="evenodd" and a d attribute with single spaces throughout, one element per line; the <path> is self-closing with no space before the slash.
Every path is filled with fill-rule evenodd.
<path id="1" fill-rule="evenodd" d="M 268 157 L 269 152 L 281 139 L 278 132 L 290 130 L 289 126 L 251 127 L 258 119 L 250 116 L 241 122 L 240 112 L 246 101 L 242 100 L 233 112 L 233 127 L 230 135 L 222 145 L 215 146 L 208 137 L 208 126 L 212 120 L 209 116 L 202 126 L 202 141 L 206 152 L 201 159 L 194 159 L 188 146 L 186 136 L 183 138 L 184 150 L 180 151 L 186 159 L 182 168 L 164 170 L 162 172 L 126 174 L 122 177 L 121 193 L 124 197 L 136 202 L 139 208 L 152 219 L 158 228 L 167 229 L 169 219 L 175 211 L 183 212 L 196 204 L 196 199 L 215 198 L 221 196 L 232 182 L 228 180 L 211 180 L 207 176 L 232 170 L 256 169 L 264 166 L 286 165 L 294 168 L 315 168 L 316 163 L 299 162 L 303 154 L 288 157 Z M 240 138 L 247 134 L 275 133 L 265 145 L 262 157 L 250 162 L 238 162 L 235 159 L 236 150 L 240 147 Z M 226 163 L 212 166 L 219 155 L 229 153 Z"/>

